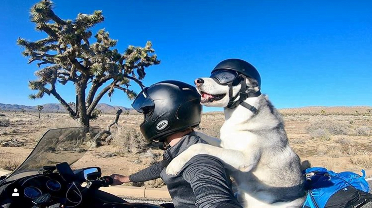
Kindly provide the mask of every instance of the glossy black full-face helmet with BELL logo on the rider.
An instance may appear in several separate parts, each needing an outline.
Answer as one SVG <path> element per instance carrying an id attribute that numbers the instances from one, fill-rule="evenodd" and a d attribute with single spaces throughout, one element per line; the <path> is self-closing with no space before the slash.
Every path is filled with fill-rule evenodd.
<path id="1" fill-rule="evenodd" d="M 164 142 L 173 133 L 199 125 L 200 100 L 195 87 L 180 81 L 162 81 L 144 88 L 132 107 L 144 114 L 142 135 L 149 142 Z"/>

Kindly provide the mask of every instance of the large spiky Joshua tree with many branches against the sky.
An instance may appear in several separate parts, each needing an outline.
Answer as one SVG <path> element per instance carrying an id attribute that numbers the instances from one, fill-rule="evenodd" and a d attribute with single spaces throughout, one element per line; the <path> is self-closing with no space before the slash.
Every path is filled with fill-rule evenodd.
<path id="1" fill-rule="evenodd" d="M 93 14 L 78 14 L 75 20 L 63 20 L 53 12 L 54 4 L 42 0 L 31 8 L 31 21 L 36 30 L 47 37 L 35 42 L 19 38 L 17 44 L 24 48 L 22 54 L 29 57 L 28 63 L 46 66 L 35 72 L 37 80 L 29 81 L 29 87 L 37 90 L 30 99 L 53 95 L 70 116 L 82 126 L 89 126 L 93 111 L 101 98 L 114 90 L 123 91 L 129 99 L 136 93 L 129 89 L 131 82 L 144 87 L 142 79 L 145 68 L 159 64 L 152 44 L 145 47 L 128 46 L 123 54 L 115 47 L 117 40 L 109 37 L 104 29 L 95 35 L 93 43 L 90 28 L 104 20 L 102 11 Z M 56 85 L 72 82 L 76 101 L 71 107 L 57 91 Z M 89 86 L 89 88 L 88 88 Z M 100 91 L 99 91 L 100 89 Z"/>

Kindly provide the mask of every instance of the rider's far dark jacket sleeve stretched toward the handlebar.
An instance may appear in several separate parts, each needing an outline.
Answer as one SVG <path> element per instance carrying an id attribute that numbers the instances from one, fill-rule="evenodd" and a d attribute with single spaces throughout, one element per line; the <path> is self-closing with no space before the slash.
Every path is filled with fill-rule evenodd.
<path id="1" fill-rule="evenodd" d="M 129 180 L 131 182 L 144 182 L 148 180 L 154 180 L 160 177 L 161 171 L 164 167 L 168 165 L 168 160 L 163 159 L 137 173 L 129 175 Z"/>

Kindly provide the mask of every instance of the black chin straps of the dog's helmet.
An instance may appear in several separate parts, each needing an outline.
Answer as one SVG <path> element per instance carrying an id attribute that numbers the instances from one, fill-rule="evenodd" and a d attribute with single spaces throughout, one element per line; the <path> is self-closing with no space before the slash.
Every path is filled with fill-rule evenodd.
<path id="1" fill-rule="evenodd" d="M 247 85 L 245 82 L 246 76 L 244 75 L 240 75 L 240 76 L 242 77 L 242 81 L 240 82 L 241 88 L 240 88 L 240 91 L 234 97 L 233 97 L 233 83 L 230 82 L 227 84 L 229 86 L 229 98 L 230 98 L 227 108 L 235 109 L 240 104 L 243 107 L 249 109 L 251 112 L 253 112 L 253 114 L 257 114 L 256 107 L 244 102 L 244 100 L 246 100 L 249 97 L 258 97 L 261 95 L 261 92 L 257 91 L 255 93 L 246 93 L 246 90 L 247 90 Z M 238 96 L 240 96 L 239 99 L 234 101 Z"/>

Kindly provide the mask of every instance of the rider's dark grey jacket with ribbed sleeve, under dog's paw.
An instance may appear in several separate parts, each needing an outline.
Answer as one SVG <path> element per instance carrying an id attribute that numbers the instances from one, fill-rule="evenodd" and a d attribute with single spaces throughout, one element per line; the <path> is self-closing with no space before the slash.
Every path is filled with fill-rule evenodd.
<path id="1" fill-rule="evenodd" d="M 194 133 L 184 136 L 164 152 L 161 162 L 130 175 L 130 181 L 143 182 L 161 177 L 177 208 L 241 208 L 231 190 L 231 181 L 223 163 L 213 156 L 197 155 L 177 175 L 166 174 L 169 162 L 196 143 L 206 142 Z"/>

